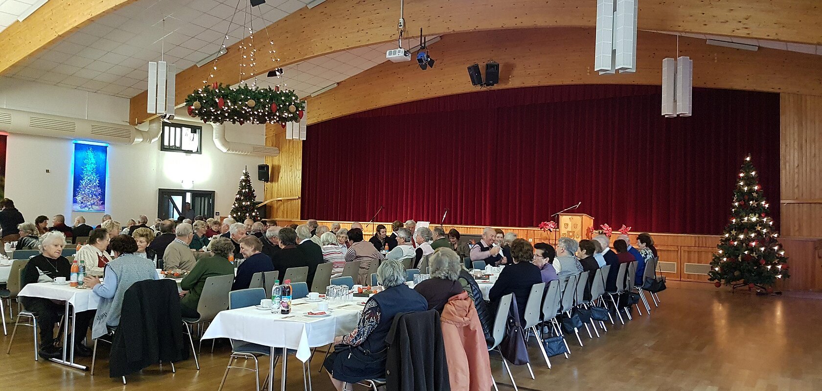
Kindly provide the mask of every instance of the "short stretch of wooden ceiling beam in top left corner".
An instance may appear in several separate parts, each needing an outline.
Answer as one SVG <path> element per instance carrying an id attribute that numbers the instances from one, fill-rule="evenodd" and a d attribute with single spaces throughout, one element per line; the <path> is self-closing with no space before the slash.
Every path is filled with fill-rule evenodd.
<path id="1" fill-rule="evenodd" d="M 0 32 L 0 75 L 109 11 L 135 0 L 49 0 Z"/>

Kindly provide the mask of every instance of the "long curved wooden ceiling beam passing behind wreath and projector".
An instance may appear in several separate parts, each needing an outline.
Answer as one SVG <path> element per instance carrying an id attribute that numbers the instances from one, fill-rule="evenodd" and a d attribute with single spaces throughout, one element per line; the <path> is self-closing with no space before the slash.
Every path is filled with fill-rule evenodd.
<path id="1" fill-rule="evenodd" d="M 580 0 L 496 0 L 443 2 L 415 0 L 405 5 L 409 34 L 420 27 L 426 34 L 451 34 L 478 30 L 530 29 L 534 27 L 587 27 L 595 25 L 596 4 Z M 312 9 L 302 8 L 268 27 L 268 34 L 279 37 L 274 48 L 279 54 L 277 67 L 302 62 L 312 57 L 349 48 L 391 42 L 396 39 L 399 2 L 383 0 L 329 0 Z M 822 44 L 822 12 L 817 0 L 643 0 L 640 4 L 640 30 L 676 31 L 696 34 L 727 35 L 753 39 L 775 39 L 805 44 Z M 552 39 L 554 33 L 544 37 Z M 572 39 L 573 37 L 563 37 Z M 593 38 L 584 58 L 593 64 Z M 508 44 L 508 43 L 506 43 Z M 236 64 L 241 55 L 233 45 L 220 57 L 226 64 L 211 81 L 237 82 Z M 269 44 L 259 45 L 267 53 Z M 269 69 L 261 69 L 260 72 Z M 176 103 L 182 103 L 192 90 L 208 79 L 210 67 L 190 67 L 178 73 Z M 146 113 L 146 94 L 132 98 L 132 122 L 142 122 Z"/>

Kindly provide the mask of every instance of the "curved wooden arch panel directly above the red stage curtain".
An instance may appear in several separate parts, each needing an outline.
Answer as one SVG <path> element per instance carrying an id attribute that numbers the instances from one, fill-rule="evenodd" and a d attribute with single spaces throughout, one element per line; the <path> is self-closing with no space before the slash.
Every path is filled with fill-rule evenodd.
<path id="1" fill-rule="evenodd" d="M 466 67 L 500 63 L 493 88 L 568 84 L 662 84 L 662 60 L 676 57 L 677 39 L 641 32 L 636 73 L 593 71 L 593 29 L 530 29 L 450 34 L 432 46 L 436 67 L 386 62 L 309 98 L 309 123 L 413 100 L 477 91 Z M 822 95 L 822 62 L 815 54 L 762 48 L 757 52 L 681 38 L 679 53 L 694 61 L 694 86 Z M 698 113 L 695 113 L 698 115 Z"/>

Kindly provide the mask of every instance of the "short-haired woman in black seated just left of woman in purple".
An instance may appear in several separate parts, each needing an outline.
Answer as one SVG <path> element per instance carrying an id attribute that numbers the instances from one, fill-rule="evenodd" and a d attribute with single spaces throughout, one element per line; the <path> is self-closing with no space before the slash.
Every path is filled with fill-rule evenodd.
<path id="1" fill-rule="evenodd" d="M 499 301 L 501 297 L 508 293 L 514 293 L 517 308 L 520 310 L 520 321 L 525 323 L 525 303 L 531 293 L 531 287 L 535 283 L 542 283 L 543 276 L 539 273 L 539 268 L 531 263 L 533 260 L 533 247 L 525 239 L 516 239 L 511 242 L 510 263 L 502 269 L 500 277 L 488 292 L 488 298 L 492 302 Z"/>

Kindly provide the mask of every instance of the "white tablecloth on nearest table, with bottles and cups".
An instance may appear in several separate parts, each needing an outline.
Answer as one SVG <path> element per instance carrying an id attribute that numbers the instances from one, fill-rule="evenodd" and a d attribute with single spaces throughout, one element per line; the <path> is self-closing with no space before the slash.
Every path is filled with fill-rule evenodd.
<path id="1" fill-rule="evenodd" d="M 293 301 L 289 315 L 273 314 L 255 307 L 221 311 L 205 330 L 203 339 L 232 338 L 268 347 L 286 347 L 297 351 L 300 361 L 311 357 L 311 348 L 334 342 L 338 335 L 349 334 L 363 311 L 360 302 L 365 297 L 354 297 L 344 303 L 331 303 L 330 316 L 309 318 L 307 311 L 316 308 L 315 303 L 303 299 Z"/>

